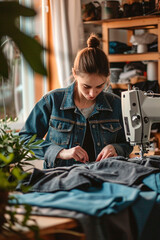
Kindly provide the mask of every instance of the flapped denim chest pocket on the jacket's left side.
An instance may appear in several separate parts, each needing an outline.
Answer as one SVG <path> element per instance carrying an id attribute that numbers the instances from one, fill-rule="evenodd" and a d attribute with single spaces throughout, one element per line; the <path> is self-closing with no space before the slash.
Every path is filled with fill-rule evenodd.
<path id="1" fill-rule="evenodd" d="M 57 145 L 67 147 L 70 142 L 73 124 L 70 122 L 50 120 L 50 140 Z"/>

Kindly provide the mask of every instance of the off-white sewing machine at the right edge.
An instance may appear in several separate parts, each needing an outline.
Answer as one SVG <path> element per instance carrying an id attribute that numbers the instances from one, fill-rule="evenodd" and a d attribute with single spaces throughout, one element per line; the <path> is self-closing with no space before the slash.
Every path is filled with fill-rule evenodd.
<path id="1" fill-rule="evenodd" d="M 140 158 L 148 152 L 153 123 L 160 122 L 160 94 L 141 90 L 122 92 L 122 115 L 126 140 L 140 148 Z"/>

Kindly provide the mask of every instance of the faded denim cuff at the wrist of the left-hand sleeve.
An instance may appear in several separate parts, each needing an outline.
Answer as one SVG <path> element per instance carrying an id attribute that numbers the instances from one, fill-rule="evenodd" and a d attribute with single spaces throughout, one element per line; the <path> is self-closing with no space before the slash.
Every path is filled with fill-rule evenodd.
<path id="1" fill-rule="evenodd" d="M 51 145 L 47 149 L 45 155 L 44 155 L 44 168 L 54 168 L 56 167 L 56 157 L 58 153 L 64 149 L 63 147 L 60 147 L 58 145 Z"/>

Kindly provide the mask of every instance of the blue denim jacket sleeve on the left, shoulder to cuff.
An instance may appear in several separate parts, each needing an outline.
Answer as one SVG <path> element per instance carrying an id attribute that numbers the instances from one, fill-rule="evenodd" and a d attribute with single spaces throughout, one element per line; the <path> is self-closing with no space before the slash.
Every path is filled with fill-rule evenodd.
<path id="1" fill-rule="evenodd" d="M 38 145 L 39 148 L 34 149 L 33 152 L 39 159 L 45 160 L 46 158 L 50 158 L 53 164 L 57 154 L 63 148 L 45 139 L 49 128 L 50 114 L 51 109 L 49 103 L 43 97 L 31 111 L 19 135 L 21 140 L 24 141 L 24 144 L 26 144 L 33 135 L 36 135 L 35 141 L 43 139 Z"/>

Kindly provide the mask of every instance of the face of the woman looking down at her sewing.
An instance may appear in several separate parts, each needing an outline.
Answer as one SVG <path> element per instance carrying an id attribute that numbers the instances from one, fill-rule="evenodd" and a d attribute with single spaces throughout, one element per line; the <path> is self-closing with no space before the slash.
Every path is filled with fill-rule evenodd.
<path id="1" fill-rule="evenodd" d="M 80 98 L 93 101 L 104 89 L 107 77 L 97 74 L 74 75 L 77 81 L 77 91 Z"/>

